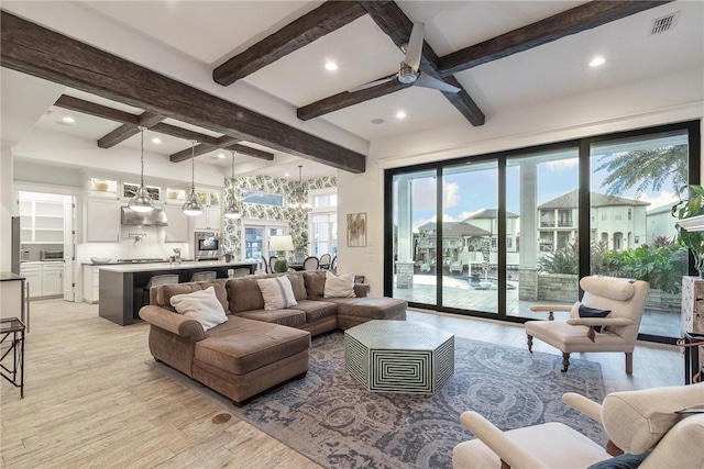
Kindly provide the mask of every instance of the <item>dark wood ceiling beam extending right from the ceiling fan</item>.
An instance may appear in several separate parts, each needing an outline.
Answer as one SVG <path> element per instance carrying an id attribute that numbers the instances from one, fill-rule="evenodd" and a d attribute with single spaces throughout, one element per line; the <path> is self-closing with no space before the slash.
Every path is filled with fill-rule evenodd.
<path id="1" fill-rule="evenodd" d="M 592 1 L 440 58 L 447 77 L 562 37 L 669 3 L 666 1 Z M 425 48 L 424 48 L 425 52 Z"/>

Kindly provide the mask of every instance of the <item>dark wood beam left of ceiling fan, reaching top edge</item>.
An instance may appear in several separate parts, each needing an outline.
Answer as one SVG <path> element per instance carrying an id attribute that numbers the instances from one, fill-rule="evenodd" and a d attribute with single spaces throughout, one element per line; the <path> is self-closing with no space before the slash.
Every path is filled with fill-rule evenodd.
<path id="1" fill-rule="evenodd" d="M 217 67 L 212 79 L 222 86 L 232 85 L 364 14 L 353 1 L 327 1 Z"/>

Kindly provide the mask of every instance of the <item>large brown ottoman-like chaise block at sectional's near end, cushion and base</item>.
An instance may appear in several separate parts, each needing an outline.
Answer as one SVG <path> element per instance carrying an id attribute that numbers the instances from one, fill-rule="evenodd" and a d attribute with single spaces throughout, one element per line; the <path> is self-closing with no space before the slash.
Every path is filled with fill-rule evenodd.
<path id="1" fill-rule="evenodd" d="M 193 377 L 241 406 L 253 395 L 308 371 L 310 333 L 231 316 L 196 343 Z"/>

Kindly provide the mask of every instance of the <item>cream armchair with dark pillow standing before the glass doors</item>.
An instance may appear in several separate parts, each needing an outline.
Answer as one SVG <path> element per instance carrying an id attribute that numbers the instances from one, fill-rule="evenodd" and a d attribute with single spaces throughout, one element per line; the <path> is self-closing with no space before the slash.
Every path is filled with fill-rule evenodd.
<path id="1" fill-rule="evenodd" d="M 532 353 L 534 337 L 560 349 L 562 371 L 570 367 L 573 351 L 623 351 L 626 354 L 626 373 L 631 375 L 634 348 L 650 283 L 615 277 L 584 277 L 580 287 L 584 295 L 572 306 L 530 308 L 549 312 L 550 316 L 548 321 L 526 323 L 528 350 Z M 570 319 L 554 321 L 554 311 L 569 311 Z"/>

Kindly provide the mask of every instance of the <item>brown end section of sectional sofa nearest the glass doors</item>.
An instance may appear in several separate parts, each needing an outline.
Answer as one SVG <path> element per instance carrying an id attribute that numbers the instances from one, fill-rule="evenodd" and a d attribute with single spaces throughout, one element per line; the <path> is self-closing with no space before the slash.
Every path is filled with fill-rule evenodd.
<path id="1" fill-rule="evenodd" d="M 408 302 L 396 298 L 356 298 L 338 302 L 338 327 L 345 330 L 372 320 L 406 321 Z"/>

